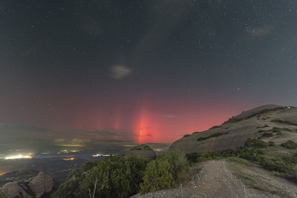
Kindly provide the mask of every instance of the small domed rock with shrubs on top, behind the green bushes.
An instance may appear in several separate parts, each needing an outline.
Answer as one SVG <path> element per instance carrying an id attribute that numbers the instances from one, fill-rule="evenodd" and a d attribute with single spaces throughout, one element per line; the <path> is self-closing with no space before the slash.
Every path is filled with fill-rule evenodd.
<path id="1" fill-rule="evenodd" d="M 131 150 L 121 152 L 120 154 L 124 154 L 125 158 L 127 159 L 130 153 L 136 154 L 138 157 L 141 157 L 141 158 L 147 159 L 147 160 L 154 160 L 157 157 L 156 152 L 152 148 L 150 148 L 148 145 L 145 145 L 145 144 L 135 146 Z M 120 155 L 120 154 L 118 154 L 118 155 Z"/>

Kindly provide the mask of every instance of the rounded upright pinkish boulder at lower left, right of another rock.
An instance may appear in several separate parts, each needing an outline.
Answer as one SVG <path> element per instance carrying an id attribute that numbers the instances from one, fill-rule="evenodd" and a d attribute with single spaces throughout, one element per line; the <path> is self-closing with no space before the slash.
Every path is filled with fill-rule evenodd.
<path id="1" fill-rule="evenodd" d="M 41 197 L 44 192 L 50 192 L 52 190 L 53 178 L 40 172 L 29 182 L 28 186 L 35 193 L 36 197 Z"/>

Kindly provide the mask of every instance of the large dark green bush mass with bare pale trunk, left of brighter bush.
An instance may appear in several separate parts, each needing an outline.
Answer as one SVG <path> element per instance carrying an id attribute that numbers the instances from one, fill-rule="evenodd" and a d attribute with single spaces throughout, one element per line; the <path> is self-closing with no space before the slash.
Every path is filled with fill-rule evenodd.
<path id="1" fill-rule="evenodd" d="M 147 164 L 148 160 L 135 154 L 130 154 L 128 159 L 119 155 L 87 161 L 70 173 L 51 198 L 89 198 L 96 181 L 95 197 L 130 197 L 139 192 Z"/>

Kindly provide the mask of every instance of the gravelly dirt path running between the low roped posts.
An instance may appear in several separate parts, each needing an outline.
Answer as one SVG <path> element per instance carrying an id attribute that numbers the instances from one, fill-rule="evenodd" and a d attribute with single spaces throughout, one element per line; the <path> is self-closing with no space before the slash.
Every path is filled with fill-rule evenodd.
<path id="1" fill-rule="evenodd" d="M 194 182 L 186 182 L 182 185 L 182 193 L 181 188 L 173 188 L 173 189 L 166 189 L 160 190 L 154 193 L 147 193 L 144 195 L 136 194 L 131 198 L 171 198 L 171 197 L 178 197 L 178 198 L 244 198 L 244 197 L 261 197 L 261 198 L 268 198 L 268 197 L 279 197 L 277 195 L 273 195 L 269 192 L 263 192 L 255 189 L 249 189 L 245 187 L 246 194 L 244 193 L 244 188 L 241 186 L 240 180 L 235 180 L 234 175 L 231 179 L 231 171 L 229 170 L 228 173 L 225 172 L 224 160 L 219 161 L 207 161 L 205 162 L 203 167 L 203 173 L 200 173 L 198 167 L 194 167 L 190 170 L 191 177 L 194 177 Z M 201 167 L 201 165 L 200 165 Z M 227 166 L 225 167 L 227 170 Z M 227 170 L 228 171 L 228 170 Z M 199 176 L 199 179 L 197 177 Z M 195 184 L 194 184 L 195 183 Z M 244 185 L 242 183 L 242 185 Z M 292 196 L 292 197 L 296 197 Z"/>

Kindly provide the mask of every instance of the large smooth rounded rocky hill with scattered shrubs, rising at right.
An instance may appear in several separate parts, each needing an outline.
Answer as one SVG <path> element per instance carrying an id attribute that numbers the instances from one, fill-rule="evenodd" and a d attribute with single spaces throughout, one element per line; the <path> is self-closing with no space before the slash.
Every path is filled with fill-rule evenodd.
<path id="1" fill-rule="evenodd" d="M 169 151 L 176 149 L 181 153 L 220 152 L 226 148 L 235 149 L 243 145 L 248 137 L 258 138 L 276 144 L 292 140 L 297 142 L 297 108 L 268 104 L 229 118 L 220 126 L 202 132 L 194 132 L 176 140 Z M 277 127 L 277 128 L 275 128 Z M 272 133 L 272 137 L 262 137 Z M 271 134 L 270 134 L 271 135 Z M 265 134 L 264 134 L 265 136 Z"/>

